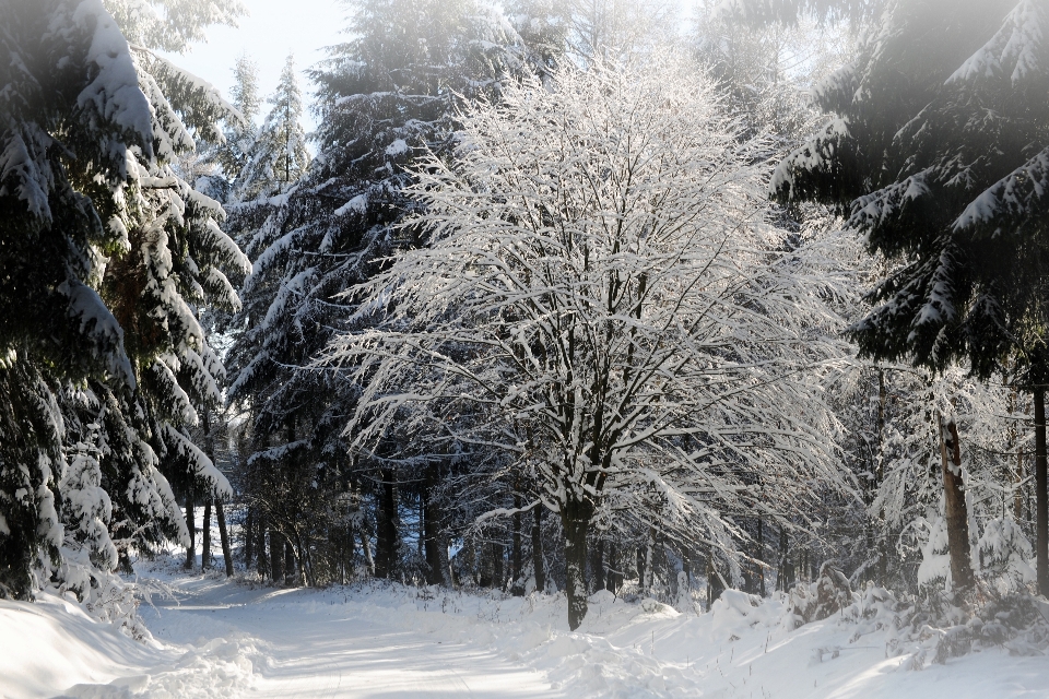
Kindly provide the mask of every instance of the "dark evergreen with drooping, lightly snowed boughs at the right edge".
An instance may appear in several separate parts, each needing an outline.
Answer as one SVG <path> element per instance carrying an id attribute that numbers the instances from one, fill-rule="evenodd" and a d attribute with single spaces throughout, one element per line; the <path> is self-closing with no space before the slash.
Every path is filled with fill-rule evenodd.
<path id="1" fill-rule="evenodd" d="M 732 4 L 758 15 L 799 5 Z M 883 4 L 857 59 L 818 91 L 836 118 L 783 161 L 774 189 L 783 201 L 837 205 L 871 251 L 892 261 L 871 293 L 875 308 L 852 329 L 863 353 L 935 369 L 962 360 L 981 377 L 1013 357 L 1044 445 L 1049 10 L 1035 0 Z M 924 40 L 930 27 L 935 42 Z M 1045 592 L 1041 448 L 1037 462 Z M 948 520 L 960 523 L 956 471 L 945 471 L 945 494 Z M 957 581 L 968 546 L 963 532 L 948 533 Z"/>

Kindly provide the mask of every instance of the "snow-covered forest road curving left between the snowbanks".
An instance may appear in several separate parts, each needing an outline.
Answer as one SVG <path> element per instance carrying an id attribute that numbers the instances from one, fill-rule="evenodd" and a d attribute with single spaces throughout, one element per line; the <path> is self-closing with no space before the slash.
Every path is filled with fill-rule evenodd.
<path id="1" fill-rule="evenodd" d="M 161 641 L 251 662 L 235 695 L 274 699 L 565 697 L 537 671 L 436 631 L 404 628 L 397 609 L 338 603 L 308 590 L 172 580 L 175 599 L 142 616 Z M 365 615 L 370 611 L 373 615 Z M 374 614 L 378 613 L 378 614 Z M 382 615 L 381 618 L 377 618 Z M 229 651 L 225 651 L 228 655 Z M 247 665 L 243 660 L 243 665 Z M 216 670 L 215 672 L 225 672 Z"/>

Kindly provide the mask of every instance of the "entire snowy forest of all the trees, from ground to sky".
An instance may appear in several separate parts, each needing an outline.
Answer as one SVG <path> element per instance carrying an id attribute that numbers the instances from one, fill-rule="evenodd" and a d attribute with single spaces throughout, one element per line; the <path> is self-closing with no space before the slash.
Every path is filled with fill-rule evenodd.
<path id="1" fill-rule="evenodd" d="M 1049 595 L 1049 5 L 346 5 L 0 0 L 0 596 Z"/>

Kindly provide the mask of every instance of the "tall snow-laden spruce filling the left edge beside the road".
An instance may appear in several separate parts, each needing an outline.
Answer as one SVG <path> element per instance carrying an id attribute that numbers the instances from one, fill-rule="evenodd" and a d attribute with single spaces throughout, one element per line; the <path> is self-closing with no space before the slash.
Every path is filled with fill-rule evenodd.
<path id="1" fill-rule="evenodd" d="M 14 57 L 0 74 L 2 594 L 54 572 L 83 596 L 96 582 L 63 560 L 104 576 L 115 550 L 185 536 L 164 473 L 227 487 L 182 428 L 222 371 L 197 309 L 237 304 L 223 270 L 243 256 L 172 167 L 227 105 L 152 52 L 160 15 L 135 5 L 0 8 Z M 179 36 L 236 7 L 195 5 Z"/>

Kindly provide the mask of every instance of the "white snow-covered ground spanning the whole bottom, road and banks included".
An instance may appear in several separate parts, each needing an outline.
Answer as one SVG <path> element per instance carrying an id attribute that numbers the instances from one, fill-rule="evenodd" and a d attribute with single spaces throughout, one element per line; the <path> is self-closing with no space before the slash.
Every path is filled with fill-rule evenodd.
<path id="1" fill-rule="evenodd" d="M 1004 650 L 923 671 L 828 619 L 786 631 L 742 595 L 714 614 L 600 593 L 581 632 L 563 597 L 358 587 L 272 590 L 142 571 L 176 599 L 145 607 L 153 643 L 56 597 L 0 602 L 4 697 L 1049 697 L 1049 659 Z M 872 635 L 873 636 L 873 635 Z M 735 640 L 732 640 L 732 639 Z"/>

